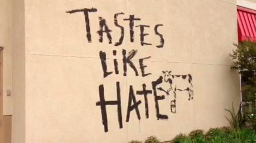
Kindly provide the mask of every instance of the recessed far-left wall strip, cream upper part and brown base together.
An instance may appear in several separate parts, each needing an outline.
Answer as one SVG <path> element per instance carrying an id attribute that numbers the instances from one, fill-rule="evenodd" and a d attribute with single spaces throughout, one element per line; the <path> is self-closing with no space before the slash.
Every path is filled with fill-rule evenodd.
<path id="1" fill-rule="evenodd" d="M 11 90 L 12 86 L 11 1 L 0 1 L 0 19 L 0 46 L 4 47 L 1 50 L 0 142 L 10 143 L 11 116 L 9 115 L 12 114 L 12 96 L 7 96 L 6 90 Z"/>

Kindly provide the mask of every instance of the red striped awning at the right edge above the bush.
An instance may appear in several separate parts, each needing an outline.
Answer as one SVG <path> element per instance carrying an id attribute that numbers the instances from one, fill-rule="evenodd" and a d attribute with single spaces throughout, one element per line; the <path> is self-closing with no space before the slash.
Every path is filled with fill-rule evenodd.
<path id="1" fill-rule="evenodd" d="M 256 11 L 237 7 L 238 41 L 256 41 Z"/>

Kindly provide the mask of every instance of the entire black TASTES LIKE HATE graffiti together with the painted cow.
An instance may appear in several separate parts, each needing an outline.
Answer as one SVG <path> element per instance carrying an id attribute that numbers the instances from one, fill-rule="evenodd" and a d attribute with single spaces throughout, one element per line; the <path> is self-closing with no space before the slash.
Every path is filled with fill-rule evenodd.
<path id="1" fill-rule="evenodd" d="M 93 14 L 93 12 L 97 12 L 97 8 L 82 8 L 77 10 L 71 10 L 67 11 L 68 14 L 83 14 L 84 20 L 85 20 L 85 30 L 86 30 L 86 40 L 89 43 L 92 43 L 92 34 L 91 34 L 91 28 L 90 28 L 90 15 Z M 153 46 L 150 42 L 145 40 L 145 37 L 148 36 L 150 33 L 146 33 L 147 28 L 151 28 L 151 25 L 143 25 L 138 24 L 135 25 L 135 23 L 138 23 L 141 18 L 137 18 L 135 15 L 129 15 L 127 18 L 123 18 L 123 21 L 127 21 L 127 27 L 129 27 L 129 34 L 125 34 L 125 26 L 120 25 L 118 23 L 119 16 L 125 16 L 123 12 L 118 12 L 114 14 L 114 25 L 115 27 L 120 29 L 120 35 L 119 39 L 116 42 L 113 42 L 113 36 L 112 36 L 112 29 L 108 26 L 106 20 L 102 17 L 98 17 L 98 31 L 96 33 L 98 34 L 98 42 L 103 42 L 104 37 L 106 36 L 106 40 L 109 44 L 113 44 L 113 46 L 120 46 L 123 44 L 123 39 L 125 36 L 129 35 L 130 42 L 134 42 L 134 28 L 139 28 L 139 41 L 141 46 Z M 164 48 L 164 36 L 162 33 L 159 32 L 159 28 L 163 27 L 163 24 L 156 24 L 154 25 L 154 35 L 156 38 L 159 39 L 159 44 L 155 45 L 156 48 Z M 106 62 L 106 59 L 108 57 L 108 54 L 105 51 L 99 51 L 98 56 L 100 59 L 100 66 L 102 68 L 102 79 L 107 79 L 110 76 L 114 75 L 123 75 L 127 76 L 127 68 L 131 68 L 131 71 L 133 71 L 135 76 L 141 76 L 143 78 L 150 78 L 150 75 L 152 73 L 146 71 L 147 65 L 144 63 L 144 61 L 151 58 L 151 55 L 147 55 L 143 58 L 139 58 L 137 62 L 139 63 L 139 66 L 136 67 L 133 60 L 133 58 L 137 55 L 139 51 L 137 49 L 127 51 L 125 49 L 122 49 L 119 53 L 122 55 L 122 66 L 120 66 L 120 63 L 118 63 L 117 58 L 113 59 L 113 65 L 114 69 L 109 70 L 108 63 Z M 111 53 L 113 56 L 117 56 L 118 51 L 113 50 Z M 179 80 L 179 82 L 177 82 Z M 181 82 L 180 82 L 181 80 Z M 113 83 L 108 83 L 113 84 Z M 117 107 L 117 115 L 118 115 L 118 123 L 119 128 L 123 128 L 123 120 L 125 122 L 129 122 L 130 115 L 132 112 L 137 115 L 138 120 L 141 119 L 141 111 L 139 110 L 139 106 L 144 106 L 145 109 L 145 118 L 150 118 L 149 115 L 149 108 L 148 108 L 148 97 L 152 96 L 155 101 L 155 118 L 157 120 L 168 120 L 168 115 L 162 114 L 160 107 L 159 107 L 159 101 L 166 99 L 167 96 L 173 96 L 173 100 L 170 102 L 170 112 L 175 114 L 176 113 L 176 100 L 177 96 L 179 95 L 179 92 L 186 92 L 188 94 L 188 100 L 193 99 L 193 84 L 192 84 L 192 75 L 189 73 L 185 73 L 184 75 L 177 75 L 172 74 L 172 71 L 170 69 L 167 69 L 167 71 L 159 71 L 159 78 L 158 79 L 151 79 L 151 83 L 143 83 L 141 85 L 141 90 L 134 90 L 133 85 L 129 86 L 129 98 L 127 101 L 127 107 L 125 107 L 126 113 L 122 112 L 122 102 L 121 102 L 121 89 L 120 89 L 120 82 L 116 81 L 115 83 L 115 90 L 116 90 L 116 100 L 109 101 L 108 99 L 105 99 L 105 86 L 104 84 L 100 84 L 98 86 L 98 96 L 99 100 L 96 101 L 96 106 L 100 107 L 101 116 L 102 116 L 102 124 L 104 125 L 104 131 L 108 132 L 108 111 L 106 109 L 107 106 L 116 106 Z M 137 99 L 137 96 L 143 96 L 144 101 Z M 125 118 L 125 119 L 123 119 Z"/>

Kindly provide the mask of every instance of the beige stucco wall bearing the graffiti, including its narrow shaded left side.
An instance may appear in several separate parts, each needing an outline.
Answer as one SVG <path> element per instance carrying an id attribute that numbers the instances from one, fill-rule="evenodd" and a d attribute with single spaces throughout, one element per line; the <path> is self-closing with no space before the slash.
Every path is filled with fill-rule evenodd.
<path id="1" fill-rule="evenodd" d="M 127 142 L 150 135 L 166 141 L 228 125 L 224 109 L 240 102 L 239 76 L 229 58 L 237 42 L 234 0 L 13 2 L 13 142 L 25 141 L 18 134 L 24 115 L 27 143 Z M 92 7 L 97 12 L 89 12 L 88 42 L 85 16 L 77 9 Z M 114 46 L 121 37 L 114 24 L 119 12 L 124 37 Z M 112 44 L 99 17 L 111 29 Z M 143 28 L 149 35 L 143 37 Z M 152 45 L 142 46 L 143 40 Z M 112 73 L 104 77 L 106 67 Z M 151 74 L 143 75 L 143 68 Z M 106 105 L 108 123 L 104 103 L 112 104 Z"/>

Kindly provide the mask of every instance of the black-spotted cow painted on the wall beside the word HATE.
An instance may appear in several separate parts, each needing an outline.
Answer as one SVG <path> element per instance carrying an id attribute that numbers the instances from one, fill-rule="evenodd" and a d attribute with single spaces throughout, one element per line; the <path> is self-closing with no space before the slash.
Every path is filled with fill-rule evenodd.
<path id="1" fill-rule="evenodd" d="M 192 84 L 192 76 L 190 74 L 188 75 L 171 75 L 171 71 L 163 71 L 164 76 L 164 82 L 169 84 L 170 87 L 168 87 L 167 89 L 163 89 L 163 88 L 158 88 L 158 90 L 161 90 L 163 92 L 165 92 L 167 95 L 170 94 L 170 92 L 172 91 L 174 93 L 174 99 L 176 100 L 176 93 L 177 91 L 183 92 L 183 91 L 187 91 L 188 92 L 188 100 L 193 99 L 193 84 Z M 177 79 L 182 79 L 184 81 L 184 83 L 182 85 L 177 85 L 175 84 L 175 80 Z"/>

